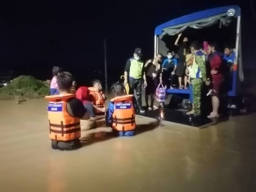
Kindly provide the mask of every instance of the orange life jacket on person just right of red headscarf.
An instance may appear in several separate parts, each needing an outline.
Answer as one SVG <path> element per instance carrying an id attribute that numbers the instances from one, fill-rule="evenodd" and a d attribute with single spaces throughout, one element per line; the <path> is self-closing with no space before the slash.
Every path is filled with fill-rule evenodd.
<path id="1" fill-rule="evenodd" d="M 88 89 L 90 91 L 89 94 L 92 97 L 91 102 L 93 103 L 93 105 L 96 105 L 99 108 L 104 108 L 105 107 L 105 95 L 102 94 L 102 91 L 99 92 L 94 87 L 88 87 Z M 97 111 L 96 110 L 96 115 L 104 115 L 104 114 L 105 113 L 103 113 L 102 111 Z"/>

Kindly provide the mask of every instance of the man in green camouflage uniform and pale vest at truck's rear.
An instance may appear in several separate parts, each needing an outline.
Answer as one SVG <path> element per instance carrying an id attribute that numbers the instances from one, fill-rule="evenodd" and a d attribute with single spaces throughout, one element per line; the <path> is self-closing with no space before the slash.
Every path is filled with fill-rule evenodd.
<path id="1" fill-rule="evenodd" d="M 189 111 L 187 114 L 195 116 L 201 115 L 201 88 L 203 82 L 206 85 L 209 85 L 210 82 L 207 81 L 206 76 L 206 67 L 205 67 L 205 55 L 203 52 L 200 51 L 200 43 L 198 41 L 192 42 L 190 49 L 191 53 L 194 54 L 193 64 L 190 69 L 190 76 L 191 76 L 191 83 L 193 87 L 193 104 L 194 109 Z"/>

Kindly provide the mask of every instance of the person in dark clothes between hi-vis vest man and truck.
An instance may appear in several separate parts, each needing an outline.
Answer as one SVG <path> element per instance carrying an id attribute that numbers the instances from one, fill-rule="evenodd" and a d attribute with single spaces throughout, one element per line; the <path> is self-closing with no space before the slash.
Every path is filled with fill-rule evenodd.
<path id="1" fill-rule="evenodd" d="M 154 106 L 154 96 L 159 82 L 162 83 L 162 67 L 160 64 L 162 57 L 163 55 L 161 53 L 158 53 L 154 60 L 151 59 L 148 62 L 146 62 L 144 67 L 145 76 L 147 80 L 145 102 L 146 107 L 149 111 L 151 111 L 152 109 L 158 109 L 157 106 Z M 151 97 L 150 106 L 148 105 L 149 96 Z"/>

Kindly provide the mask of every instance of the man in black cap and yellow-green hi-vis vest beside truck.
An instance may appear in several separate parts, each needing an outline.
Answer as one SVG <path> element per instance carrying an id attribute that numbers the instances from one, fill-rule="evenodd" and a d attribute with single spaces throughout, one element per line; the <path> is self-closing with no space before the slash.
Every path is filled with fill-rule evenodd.
<path id="1" fill-rule="evenodd" d="M 124 84 L 126 85 L 129 82 L 130 85 L 130 93 L 134 94 L 134 89 L 136 90 L 136 99 L 138 108 L 140 113 L 145 113 L 145 110 L 142 108 L 142 78 L 144 79 L 144 85 L 147 86 L 147 81 L 145 74 L 143 73 L 143 61 L 141 60 L 142 57 L 142 49 L 136 48 L 134 50 L 134 56 L 129 58 L 125 65 L 125 81 Z M 129 79 L 128 79 L 129 76 Z M 129 81 L 128 81 L 129 80 Z"/>

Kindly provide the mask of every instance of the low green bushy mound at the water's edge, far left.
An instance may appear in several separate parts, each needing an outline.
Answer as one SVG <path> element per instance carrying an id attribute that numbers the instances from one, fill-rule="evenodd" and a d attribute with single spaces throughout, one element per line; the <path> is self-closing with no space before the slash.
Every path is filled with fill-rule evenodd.
<path id="1" fill-rule="evenodd" d="M 0 88 L 0 99 L 32 99 L 49 95 L 49 84 L 32 76 L 19 76 Z"/>

